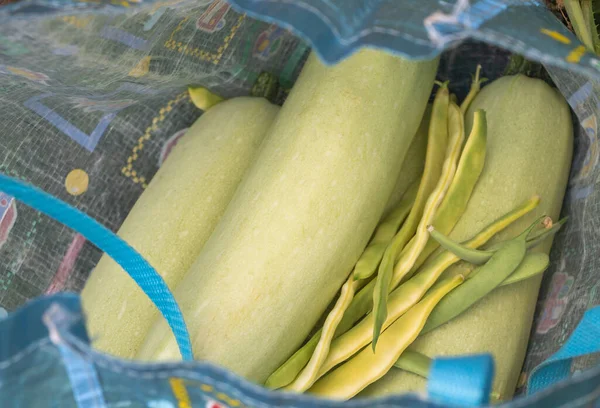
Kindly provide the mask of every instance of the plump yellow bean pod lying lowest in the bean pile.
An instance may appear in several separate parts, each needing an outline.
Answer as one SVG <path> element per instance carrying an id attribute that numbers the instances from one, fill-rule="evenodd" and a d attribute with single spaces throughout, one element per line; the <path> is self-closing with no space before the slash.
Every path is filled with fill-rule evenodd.
<path id="1" fill-rule="evenodd" d="M 444 281 L 401 318 L 381 334 L 380 347 L 376 353 L 369 348 L 318 380 L 308 392 L 311 394 L 349 399 L 369 384 L 383 377 L 398 360 L 402 352 L 417 338 L 427 317 L 448 293 L 463 282 L 462 275 Z"/>

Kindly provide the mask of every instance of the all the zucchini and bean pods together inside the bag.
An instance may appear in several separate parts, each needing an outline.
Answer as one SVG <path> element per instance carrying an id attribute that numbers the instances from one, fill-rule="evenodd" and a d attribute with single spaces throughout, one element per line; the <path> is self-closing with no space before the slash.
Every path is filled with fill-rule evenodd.
<path id="1" fill-rule="evenodd" d="M 349 399 L 419 389 L 437 355 L 491 352 L 494 395 L 512 394 L 565 222 L 571 116 L 522 75 L 480 89 L 477 70 L 459 102 L 437 64 L 311 55 L 281 109 L 211 99 L 119 231 L 173 290 L 195 358 Z M 97 348 L 179 358 L 108 258 L 83 302 Z"/>

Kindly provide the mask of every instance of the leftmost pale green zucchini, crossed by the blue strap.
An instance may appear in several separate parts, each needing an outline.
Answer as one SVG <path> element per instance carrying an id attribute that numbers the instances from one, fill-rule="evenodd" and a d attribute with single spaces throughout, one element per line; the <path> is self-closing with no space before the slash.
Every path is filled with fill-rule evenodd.
<path id="1" fill-rule="evenodd" d="M 279 107 L 239 97 L 203 114 L 173 148 L 119 229 L 173 289 L 256 158 Z M 82 292 L 94 347 L 133 358 L 158 310 L 104 255 Z"/>

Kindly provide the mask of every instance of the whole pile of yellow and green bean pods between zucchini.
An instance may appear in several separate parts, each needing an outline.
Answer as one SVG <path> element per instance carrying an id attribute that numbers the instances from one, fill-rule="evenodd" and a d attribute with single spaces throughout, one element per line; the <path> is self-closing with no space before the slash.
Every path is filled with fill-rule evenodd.
<path id="1" fill-rule="evenodd" d="M 475 112 L 464 141 L 464 115 L 482 82 L 479 70 L 460 106 L 448 84 L 440 84 L 421 180 L 377 226 L 323 326 L 267 379 L 268 388 L 348 399 L 390 369 L 426 377 L 431 358 L 411 350 L 417 337 L 465 313 L 494 289 L 547 269 L 548 256 L 529 249 L 555 234 L 565 219 L 553 223 L 542 217 L 518 236 L 484 247 L 535 209 L 537 196 L 465 242 L 448 237 L 485 165 L 484 111 Z M 444 278 L 459 261 L 472 270 Z"/>

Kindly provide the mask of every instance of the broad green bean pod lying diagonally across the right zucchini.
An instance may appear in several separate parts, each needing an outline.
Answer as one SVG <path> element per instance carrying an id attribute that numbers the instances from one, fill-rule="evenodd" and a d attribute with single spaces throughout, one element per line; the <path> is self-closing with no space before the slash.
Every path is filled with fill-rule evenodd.
<path id="1" fill-rule="evenodd" d="M 534 225 L 532 225 L 533 228 Z M 527 251 L 525 239 L 530 228 L 523 234 L 507 241 L 498 249 L 490 260 L 480 266 L 474 276 L 448 297 L 446 297 L 431 313 L 422 333 L 428 333 L 436 327 L 452 320 L 482 297 L 494 290 L 521 264 Z"/>

